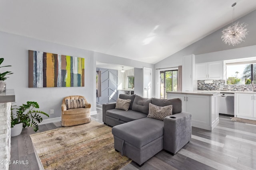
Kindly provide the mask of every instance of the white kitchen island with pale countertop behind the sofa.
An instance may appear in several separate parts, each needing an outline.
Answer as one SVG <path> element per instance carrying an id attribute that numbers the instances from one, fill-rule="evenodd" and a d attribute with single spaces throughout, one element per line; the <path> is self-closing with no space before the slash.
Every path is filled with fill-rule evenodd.
<path id="1" fill-rule="evenodd" d="M 167 92 L 167 98 L 180 98 L 182 111 L 192 114 L 192 126 L 212 131 L 219 123 L 218 93 L 214 91 Z"/>

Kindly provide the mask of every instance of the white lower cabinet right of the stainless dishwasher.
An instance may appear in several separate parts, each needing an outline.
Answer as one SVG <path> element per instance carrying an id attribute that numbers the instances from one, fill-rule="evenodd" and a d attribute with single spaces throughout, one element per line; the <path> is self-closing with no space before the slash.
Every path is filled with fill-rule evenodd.
<path id="1" fill-rule="evenodd" d="M 236 117 L 256 117 L 256 94 L 236 93 Z"/>

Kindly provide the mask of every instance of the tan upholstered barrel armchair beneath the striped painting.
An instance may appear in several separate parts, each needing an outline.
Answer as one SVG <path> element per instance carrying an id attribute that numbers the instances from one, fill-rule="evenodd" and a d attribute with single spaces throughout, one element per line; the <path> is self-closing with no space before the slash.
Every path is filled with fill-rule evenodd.
<path id="1" fill-rule="evenodd" d="M 79 100 L 82 99 L 82 100 Z M 72 104 L 72 102 L 84 102 L 84 104 Z M 75 107 L 74 109 L 67 109 L 68 106 Z M 71 105 L 70 105 L 71 103 Z M 84 106 L 84 107 L 82 107 Z M 80 108 L 76 108 L 80 107 Z M 61 110 L 61 124 L 62 126 L 74 126 L 81 125 L 84 123 L 89 123 L 91 121 L 90 117 L 91 104 L 87 102 L 84 96 L 67 96 L 62 100 Z"/>

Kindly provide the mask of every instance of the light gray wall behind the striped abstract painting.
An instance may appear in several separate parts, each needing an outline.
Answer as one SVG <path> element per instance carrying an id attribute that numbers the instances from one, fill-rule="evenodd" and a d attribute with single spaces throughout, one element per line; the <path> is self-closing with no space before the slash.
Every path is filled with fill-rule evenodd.
<path id="1" fill-rule="evenodd" d="M 85 58 L 85 87 L 28 88 L 28 50 Z M 50 109 L 54 109 L 54 114 L 49 114 L 50 118 L 61 116 L 62 99 L 70 95 L 85 96 L 88 102 L 92 104 L 91 111 L 96 111 L 96 61 L 154 68 L 153 64 L 4 32 L 0 32 L 0 51 L 0 57 L 4 58 L 3 65 L 12 65 L 11 67 L 0 68 L 0 72 L 5 70 L 14 72 L 6 80 L 6 86 L 8 89 L 15 90 L 16 105 L 20 106 L 27 101 L 38 102 L 40 110 L 46 113 L 50 113 Z M 42 117 L 47 118 L 44 115 Z"/>

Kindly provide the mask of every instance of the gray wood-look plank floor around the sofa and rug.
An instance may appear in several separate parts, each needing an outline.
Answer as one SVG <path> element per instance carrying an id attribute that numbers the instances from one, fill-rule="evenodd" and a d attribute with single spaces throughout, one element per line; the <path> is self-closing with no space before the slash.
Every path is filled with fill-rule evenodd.
<path id="1" fill-rule="evenodd" d="M 97 106 L 92 119 L 102 123 L 102 109 Z M 60 122 L 39 126 L 39 131 L 61 127 Z M 34 133 L 25 128 L 22 134 L 11 139 L 11 160 L 28 160 L 29 164 L 11 164 L 10 170 L 37 170 L 38 165 L 29 137 Z M 256 125 L 231 121 L 221 116 L 213 131 L 192 127 L 192 140 L 174 156 L 160 151 L 138 167 L 131 162 L 122 170 L 252 170 L 256 169 Z"/>

